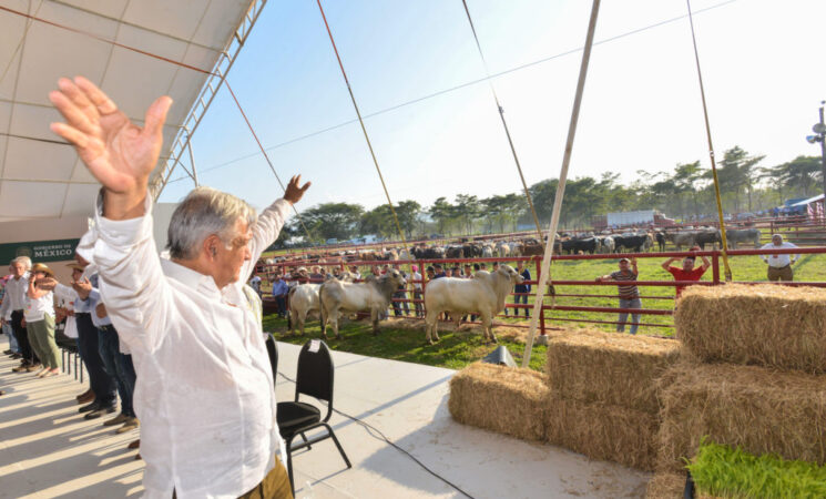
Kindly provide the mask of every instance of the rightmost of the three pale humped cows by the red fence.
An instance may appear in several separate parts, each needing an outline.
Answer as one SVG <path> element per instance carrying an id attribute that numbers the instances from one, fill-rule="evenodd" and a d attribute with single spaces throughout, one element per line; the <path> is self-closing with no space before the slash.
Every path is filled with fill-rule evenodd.
<path id="1" fill-rule="evenodd" d="M 496 343 L 497 337 L 491 328 L 493 317 L 504 309 L 504 301 L 513 291 L 513 285 L 523 282 L 524 278 L 510 265 L 500 265 L 493 273 L 479 271 L 472 279 L 442 277 L 431 281 L 425 292 L 427 342 L 432 345 L 434 340 L 439 340 L 438 317 L 442 312 L 448 312 L 457 328 L 462 315 L 479 314 L 482 336 Z"/>

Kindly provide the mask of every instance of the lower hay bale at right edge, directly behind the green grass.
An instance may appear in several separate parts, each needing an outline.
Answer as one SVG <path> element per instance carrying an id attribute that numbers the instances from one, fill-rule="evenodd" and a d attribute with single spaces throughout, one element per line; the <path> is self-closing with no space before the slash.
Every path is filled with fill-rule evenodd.
<path id="1" fill-rule="evenodd" d="M 703 436 L 754 454 L 826 462 L 826 376 L 681 363 L 660 380 L 659 469 L 680 469 Z"/>

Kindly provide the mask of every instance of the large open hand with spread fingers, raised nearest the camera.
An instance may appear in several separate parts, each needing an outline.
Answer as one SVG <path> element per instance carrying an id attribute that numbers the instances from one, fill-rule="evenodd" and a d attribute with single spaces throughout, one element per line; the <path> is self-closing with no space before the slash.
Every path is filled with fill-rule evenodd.
<path id="1" fill-rule="evenodd" d="M 172 99 L 162 96 L 152 103 L 141 129 L 85 78 L 61 78 L 58 86 L 60 90 L 50 92 L 49 99 L 65 123 L 52 123 L 51 130 L 74 144 L 89 171 L 105 187 L 105 215 L 134 215 L 161 154 L 163 124 Z"/>

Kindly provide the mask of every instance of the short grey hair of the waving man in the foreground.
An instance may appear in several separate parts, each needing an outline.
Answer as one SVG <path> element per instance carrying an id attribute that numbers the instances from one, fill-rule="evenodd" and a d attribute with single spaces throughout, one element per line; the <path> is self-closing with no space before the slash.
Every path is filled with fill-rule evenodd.
<path id="1" fill-rule="evenodd" d="M 212 187 L 196 187 L 175 208 L 166 233 L 166 248 L 174 259 L 198 255 L 200 246 L 212 234 L 228 247 L 238 218 L 252 226 L 258 214 L 244 200 Z"/>

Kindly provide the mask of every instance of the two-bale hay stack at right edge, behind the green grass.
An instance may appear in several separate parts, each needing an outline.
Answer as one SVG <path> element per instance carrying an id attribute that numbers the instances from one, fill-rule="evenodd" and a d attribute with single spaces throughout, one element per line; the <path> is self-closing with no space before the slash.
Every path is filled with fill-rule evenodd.
<path id="1" fill-rule="evenodd" d="M 675 323 L 695 359 L 660 381 L 659 469 L 683 468 L 704 436 L 826 462 L 826 291 L 689 288 Z"/>

